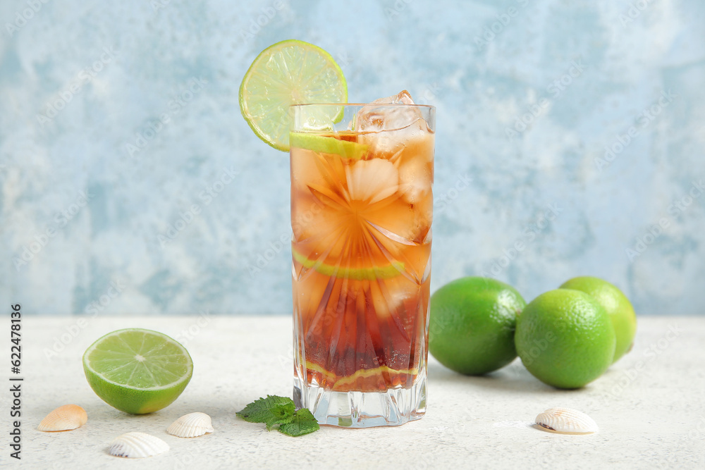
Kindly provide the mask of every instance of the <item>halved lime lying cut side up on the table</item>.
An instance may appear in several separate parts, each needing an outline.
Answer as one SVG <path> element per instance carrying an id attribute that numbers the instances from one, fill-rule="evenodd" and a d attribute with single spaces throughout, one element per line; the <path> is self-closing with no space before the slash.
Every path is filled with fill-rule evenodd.
<path id="1" fill-rule="evenodd" d="M 186 388 L 193 363 L 167 335 L 128 328 L 108 333 L 83 354 L 83 371 L 96 395 L 125 413 L 156 412 Z"/>

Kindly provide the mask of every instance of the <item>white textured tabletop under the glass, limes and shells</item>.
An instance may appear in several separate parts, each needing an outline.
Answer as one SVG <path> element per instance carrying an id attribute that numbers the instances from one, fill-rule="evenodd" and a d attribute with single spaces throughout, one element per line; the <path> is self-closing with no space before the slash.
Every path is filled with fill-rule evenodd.
<path id="1" fill-rule="evenodd" d="M 10 457 L 11 382 L 0 364 L 0 466 L 37 469 L 216 468 L 705 468 L 705 319 L 639 318 L 634 349 L 582 390 L 561 391 L 534 379 L 517 360 L 491 376 L 464 377 L 429 359 L 424 419 L 396 428 L 324 427 L 300 438 L 235 416 L 266 394 L 290 396 L 291 321 L 277 317 L 23 318 L 22 452 Z M 84 323 L 85 322 L 85 323 Z M 6 320 L 9 326 L 9 319 Z M 170 407 L 130 416 L 104 404 L 83 376 L 81 356 L 118 328 L 159 330 L 183 341 L 193 378 Z M 190 331 L 190 333 L 189 333 Z M 185 332 L 185 333 L 183 333 Z M 66 343 L 66 344 L 65 344 Z M 88 423 L 65 433 L 37 424 L 61 404 L 76 403 Z M 549 407 L 589 414 L 594 435 L 558 435 L 530 425 Z M 166 434 L 189 412 L 212 416 L 215 433 L 195 439 Z M 110 441 L 127 431 L 164 439 L 171 450 L 149 459 L 111 457 Z"/>

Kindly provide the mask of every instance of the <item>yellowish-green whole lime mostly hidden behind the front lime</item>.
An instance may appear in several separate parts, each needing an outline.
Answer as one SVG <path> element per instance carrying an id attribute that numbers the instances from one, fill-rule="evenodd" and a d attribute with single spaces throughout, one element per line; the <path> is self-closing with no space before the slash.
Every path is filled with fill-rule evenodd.
<path id="1" fill-rule="evenodd" d="M 634 335 L 637 333 L 637 315 L 627 296 L 615 285 L 600 278 L 580 276 L 565 281 L 561 289 L 582 290 L 592 297 L 607 311 L 615 328 L 617 346 L 613 363 L 622 357 L 632 347 Z"/>

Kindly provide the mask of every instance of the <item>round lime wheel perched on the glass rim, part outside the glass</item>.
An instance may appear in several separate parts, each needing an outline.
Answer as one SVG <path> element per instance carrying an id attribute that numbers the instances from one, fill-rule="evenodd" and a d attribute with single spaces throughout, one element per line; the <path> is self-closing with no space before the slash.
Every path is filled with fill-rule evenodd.
<path id="1" fill-rule="evenodd" d="M 240 111 L 257 137 L 275 149 L 289 150 L 289 106 L 345 103 L 348 85 L 331 54 L 296 39 L 264 49 L 240 85 Z M 342 109 L 326 106 L 317 120 L 337 122 Z"/>

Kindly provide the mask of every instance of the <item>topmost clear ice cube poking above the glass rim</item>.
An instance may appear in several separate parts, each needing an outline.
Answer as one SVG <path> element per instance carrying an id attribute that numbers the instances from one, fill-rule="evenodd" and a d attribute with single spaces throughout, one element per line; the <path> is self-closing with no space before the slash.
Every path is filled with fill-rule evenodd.
<path id="1" fill-rule="evenodd" d="M 391 97 L 375 99 L 357 111 L 355 123 L 357 132 L 381 132 L 408 128 L 411 125 L 419 129 L 426 128 L 426 123 L 416 107 L 412 106 L 375 106 L 376 104 L 415 104 L 406 90 Z"/>

